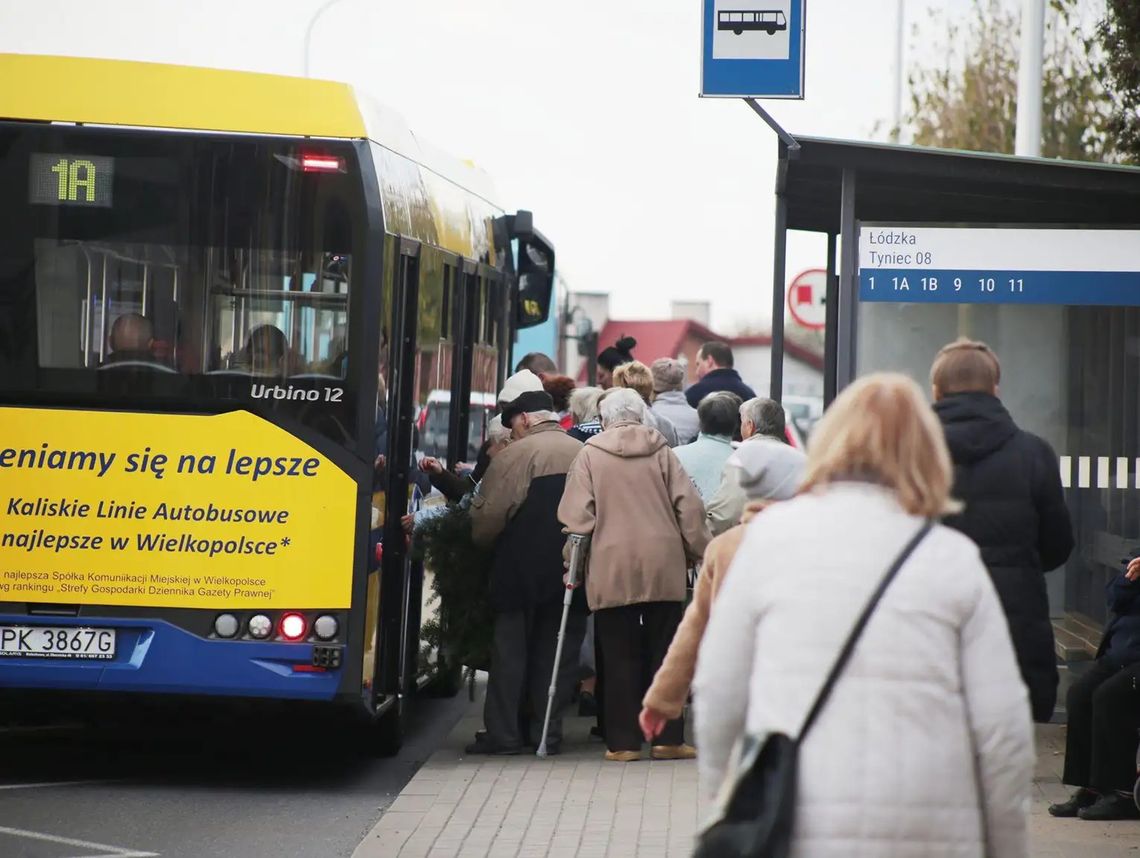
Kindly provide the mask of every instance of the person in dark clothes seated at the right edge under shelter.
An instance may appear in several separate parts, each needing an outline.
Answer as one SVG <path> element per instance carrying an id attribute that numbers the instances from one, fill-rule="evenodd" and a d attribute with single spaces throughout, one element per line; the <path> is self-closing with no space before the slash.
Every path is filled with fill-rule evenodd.
<path id="1" fill-rule="evenodd" d="M 1140 729 L 1140 557 L 1108 582 L 1110 612 L 1097 661 L 1068 692 L 1061 782 L 1076 786 L 1049 812 L 1081 819 L 1138 819 L 1132 799 Z"/>

